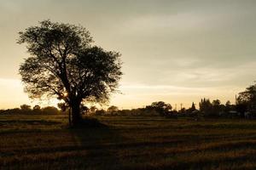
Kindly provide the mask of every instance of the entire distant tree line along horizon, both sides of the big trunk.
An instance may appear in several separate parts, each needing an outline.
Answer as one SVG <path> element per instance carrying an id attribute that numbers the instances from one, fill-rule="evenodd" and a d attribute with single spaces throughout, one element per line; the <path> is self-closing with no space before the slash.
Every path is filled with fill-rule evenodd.
<path id="1" fill-rule="evenodd" d="M 70 108 L 65 103 L 58 105 L 59 109 L 54 106 L 41 108 L 39 105 L 20 105 L 20 108 L 0 110 L 0 114 L 68 114 Z M 107 110 L 98 109 L 95 105 L 90 107 L 80 105 L 80 111 L 83 115 L 96 116 L 192 116 L 192 117 L 241 117 L 241 118 L 256 118 L 256 84 L 246 88 L 244 92 L 239 93 L 236 104 L 231 104 L 226 101 L 222 104 L 219 99 L 201 99 L 199 108 L 195 108 L 193 102 L 188 109 L 181 107 L 180 111 L 173 109 L 171 104 L 164 101 L 156 101 L 151 105 L 146 105 L 143 108 L 131 110 L 119 110 L 115 105 L 111 105 Z"/>

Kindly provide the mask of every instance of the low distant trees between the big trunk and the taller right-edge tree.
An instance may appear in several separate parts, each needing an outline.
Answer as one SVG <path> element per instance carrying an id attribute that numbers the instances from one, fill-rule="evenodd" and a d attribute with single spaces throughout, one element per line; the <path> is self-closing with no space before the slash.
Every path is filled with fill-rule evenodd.
<path id="1" fill-rule="evenodd" d="M 120 116 L 131 116 L 131 115 L 141 115 L 141 116 L 166 116 L 166 117 L 177 117 L 177 116 L 224 116 L 229 114 L 229 112 L 235 111 L 236 106 L 230 105 L 230 101 L 226 102 L 226 105 L 220 104 L 219 99 L 201 99 L 199 103 L 199 110 L 195 108 L 195 103 L 193 102 L 191 107 L 188 109 L 182 107 L 180 111 L 172 108 L 171 104 L 164 101 L 156 101 L 151 105 L 146 105 L 143 108 L 131 109 L 131 110 L 119 110 L 117 106 L 110 106 L 107 111 L 96 110 L 94 112 L 89 111 L 90 114 L 96 115 L 120 115 Z"/>

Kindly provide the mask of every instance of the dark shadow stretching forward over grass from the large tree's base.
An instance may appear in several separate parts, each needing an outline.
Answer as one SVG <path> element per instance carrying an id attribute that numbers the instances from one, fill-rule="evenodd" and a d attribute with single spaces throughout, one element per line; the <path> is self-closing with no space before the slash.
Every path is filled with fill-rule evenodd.
<path id="1" fill-rule="evenodd" d="M 96 119 L 85 120 L 84 125 L 69 128 L 73 144 L 79 148 L 81 156 L 76 165 L 68 165 L 69 169 L 119 169 L 119 148 L 115 144 L 125 139 L 113 127 L 108 127 Z"/>

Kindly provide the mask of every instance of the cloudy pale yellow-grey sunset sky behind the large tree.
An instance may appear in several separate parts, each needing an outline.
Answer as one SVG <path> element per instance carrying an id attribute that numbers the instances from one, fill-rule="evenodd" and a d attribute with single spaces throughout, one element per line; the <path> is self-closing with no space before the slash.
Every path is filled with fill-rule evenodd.
<path id="1" fill-rule="evenodd" d="M 122 54 L 121 94 L 109 105 L 234 103 L 256 80 L 255 16 L 254 0 L 0 0 L 0 109 L 53 103 L 23 92 L 18 70 L 29 54 L 16 43 L 48 19 L 84 26 Z"/>

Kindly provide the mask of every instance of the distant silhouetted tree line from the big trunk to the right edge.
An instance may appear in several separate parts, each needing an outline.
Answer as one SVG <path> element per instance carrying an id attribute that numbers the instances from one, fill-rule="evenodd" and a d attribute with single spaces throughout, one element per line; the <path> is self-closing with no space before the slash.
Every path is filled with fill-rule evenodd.
<path id="1" fill-rule="evenodd" d="M 90 113 L 90 111 L 89 111 Z M 172 109 L 172 105 L 164 101 L 153 102 L 144 108 L 132 110 L 119 110 L 116 106 L 110 106 L 107 111 L 95 110 L 96 115 L 143 115 L 143 116 L 194 116 L 194 117 L 226 117 L 226 118 L 256 118 L 256 84 L 246 88 L 244 92 L 239 93 L 236 103 L 231 104 L 226 101 L 224 104 L 219 99 L 201 99 L 199 109 L 195 108 L 193 102 L 189 109 L 182 107 L 180 111 Z"/>

